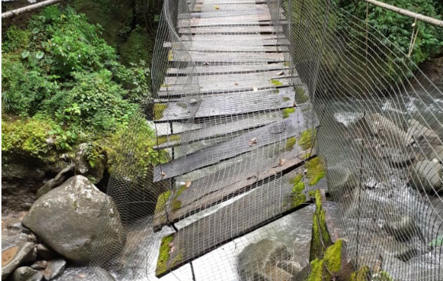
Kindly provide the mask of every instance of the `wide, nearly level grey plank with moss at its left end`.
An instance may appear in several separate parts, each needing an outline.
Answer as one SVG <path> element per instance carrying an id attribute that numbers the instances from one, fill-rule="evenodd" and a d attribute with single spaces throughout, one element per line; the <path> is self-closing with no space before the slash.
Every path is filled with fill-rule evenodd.
<path id="1" fill-rule="evenodd" d="M 173 122 L 189 118 L 240 115 L 264 110 L 293 107 L 295 92 L 292 87 L 252 93 L 227 93 L 205 96 L 200 103 L 168 103 L 161 119 L 155 122 Z M 195 112 L 196 110 L 196 112 Z"/>

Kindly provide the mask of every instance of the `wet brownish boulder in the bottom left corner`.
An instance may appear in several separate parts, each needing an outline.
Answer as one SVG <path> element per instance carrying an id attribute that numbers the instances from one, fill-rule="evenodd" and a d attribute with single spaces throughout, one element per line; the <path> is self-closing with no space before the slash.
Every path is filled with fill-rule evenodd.
<path id="1" fill-rule="evenodd" d="M 24 233 L 4 237 L 1 240 L 1 280 L 10 275 L 21 263 L 34 261 L 36 244 Z"/>

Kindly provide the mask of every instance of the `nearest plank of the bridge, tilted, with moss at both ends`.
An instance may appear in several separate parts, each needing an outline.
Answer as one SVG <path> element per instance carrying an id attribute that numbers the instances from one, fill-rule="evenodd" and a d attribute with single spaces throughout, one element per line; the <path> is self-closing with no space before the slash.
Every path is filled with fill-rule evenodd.
<path id="1" fill-rule="evenodd" d="M 280 178 L 268 181 L 232 204 L 164 238 L 163 241 L 170 242 L 174 251 L 167 255 L 166 260 L 160 261 L 165 267 L 157 268 L 155 275 L 165 275 L 169 270 L 179 268 L 236 237 L 307 206 L 312 200 L 307 194 L 309 180 L 304 175 L 305 168 L 306 166 L 301 166 Z M 300 192 L 295 192 L 294 181 L 298 177 L 304 186 L 301 186 Z M 326 188 L 326 179 L 323 178 L 311 188 Z M 165 248 L 163 251 L 169 251 L 169 247 Z M 161 252 L 159 256 L 162 256 Z"/>

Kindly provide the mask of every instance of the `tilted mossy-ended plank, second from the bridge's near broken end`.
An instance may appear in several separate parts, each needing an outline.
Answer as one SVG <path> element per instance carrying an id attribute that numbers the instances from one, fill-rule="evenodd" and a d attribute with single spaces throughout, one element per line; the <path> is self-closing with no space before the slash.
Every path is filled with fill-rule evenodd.
<path id="1" fill-rule="evenodd" d="M 295 137 L 299 139 L 300 135 L 308 129 L 306 124 L 300 127 L 300 132 Z M 181 202 L 179 209 L 173 209 L 169 204 L 167 207 L 168 216 L 166 216 L 165 209 L 155 211 L 154 229 L 160 230 L 168 221 L 169 223 L 175 223 L 197 211 L 248 191 L 254 188 L 257 183 L 269 180 L 283 171 L 291 170 L 307 157 L 316 154 L 312 147 L 302 148 L 296 144 L 292 149 L 288 149 L 285 148 L 285 145 L 282 146 L 284 151 L 276 157 L 260 159 L 257 155 L 259 152 L 252 151 L 249 152 L 248 157 L 243 157 L 240 163 L 232 164 L 192 181 L 191 188 L 181 190 L 177 197 L 173 197 L 177 202 Z M 280 158 L 285 159 L 281 165 L 279 164 Z M 238 173 L 240 170 L 242 172 Z M 211 184 L 208 185 L 207 183 Z"/>

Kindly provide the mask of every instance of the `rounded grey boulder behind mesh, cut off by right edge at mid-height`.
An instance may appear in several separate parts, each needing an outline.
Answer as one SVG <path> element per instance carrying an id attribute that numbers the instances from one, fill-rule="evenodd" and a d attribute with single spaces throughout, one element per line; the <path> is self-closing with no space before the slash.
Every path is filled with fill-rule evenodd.
<path id="1" fill-rule="evenodd" d="M 443 166 L 433 161 L 420 161 L 413 167 L 411 184 L 418 190 L 438 192 L 442 188 Z"/>

